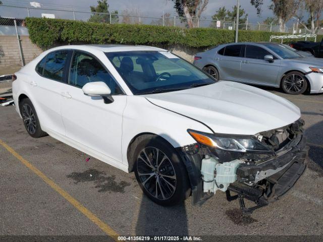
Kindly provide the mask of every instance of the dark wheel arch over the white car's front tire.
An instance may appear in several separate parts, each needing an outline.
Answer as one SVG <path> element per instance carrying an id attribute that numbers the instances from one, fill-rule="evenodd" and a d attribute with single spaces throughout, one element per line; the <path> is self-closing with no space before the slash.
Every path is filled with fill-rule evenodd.
<path id="1" fill-rule="evenodd" d="M 134 171 L 134 164 L 135 164 L 135 160 L 133 158 L 134 156 L 134 152 L 135 152 L 135 148 L 138 144 L 138 142 L 143 141 L 143 140 L 150 140 L 154 137 L 158 137 L 160 139 L 163 139 L 168 145 L 170 145 L 171 147 L 173 147 L 175 149 L 175 147 L 170 143 L 170 141 L 168 141 L 166 138 L 154 134 L 154 133 L 149 133 L 149 132 L 143 132 L 140 134 L 137 134 L 135 137 L 133 137 L 131 139 L 131 141 L 128 144 L 128 148 L 127 148 L 127 161 L 128 161 L 128 172 L 132 172 Z"/>

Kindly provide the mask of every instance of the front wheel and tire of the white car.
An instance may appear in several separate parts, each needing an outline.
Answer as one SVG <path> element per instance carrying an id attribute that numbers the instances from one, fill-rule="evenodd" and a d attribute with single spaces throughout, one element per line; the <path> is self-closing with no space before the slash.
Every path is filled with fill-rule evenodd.
<path id="1" fill-rule="evenodd" d="M 140 141 L 134 154 L 136 179 L 150 200 L 172 206 L 189 197 L 191 191 L 185 165 L 163 138 L 151 136 Z"/>

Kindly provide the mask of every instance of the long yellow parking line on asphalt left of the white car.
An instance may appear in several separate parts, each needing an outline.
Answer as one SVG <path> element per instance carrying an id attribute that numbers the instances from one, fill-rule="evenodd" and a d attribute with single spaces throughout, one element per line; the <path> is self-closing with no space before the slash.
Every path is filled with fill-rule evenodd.
<path id="1" fill-rule="evenodd" d="M 56 183 L 54 183 L 51 179 L 49 179 L 44 173 L 38 170 L 35 166 L 30 164 L 27 160 L 25 160 L 21 155 L 19 155 L 13 148 L 8 146 L 5 142 L 0 140 L 0 145 L 5 147 L 13 156 L 15 156 L 18 160 L 20 160 L 25 166 L 27 166 L 30 170 L 32 170 L 36 175 L 38 175 L 49 187 L 58 192 L 63 198 L 65 198 L 70 204 L 72 204 L 75 208 L 77 208 L 81 213 L 83 213 L 88 219 L 90 219 L 93 223 L 95 223 L 104 233 L 111 236 L 115 241 L 118 240 L 119 234 L 114 231 L 109 225 L 105 224 L 102 220 L 96 217 L 91 211 L 85 208 L 82 204 L 80 204 L 75 198 L 65 192 L 62 188 L 60 188 Z"/>

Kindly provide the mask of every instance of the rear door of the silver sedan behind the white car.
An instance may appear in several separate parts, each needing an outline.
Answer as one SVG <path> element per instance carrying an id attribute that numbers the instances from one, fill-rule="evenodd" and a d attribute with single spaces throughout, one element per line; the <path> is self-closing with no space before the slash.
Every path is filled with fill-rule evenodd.
<path id="1" fill-rule="evenodd" d="M 243 44 L 227 45 L 222 56 L 222 52 L 218 52 L 221 57 L 217 58 L 217 63 L 222 80 L 241 81 L 241 56 L 244 51 L 244 46 Z"/>

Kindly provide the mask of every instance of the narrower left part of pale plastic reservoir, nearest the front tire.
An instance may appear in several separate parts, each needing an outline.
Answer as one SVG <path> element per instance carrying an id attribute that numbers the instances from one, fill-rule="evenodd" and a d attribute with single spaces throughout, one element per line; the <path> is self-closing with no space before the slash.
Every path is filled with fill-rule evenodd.
<path id="1" fill-rule="evenodd" d="M 214 191 L 214 170 L 219 162 L 209 156 L 202 159 L 201 174 L 203 175 L 203 192 L 215 193 Z"/>

